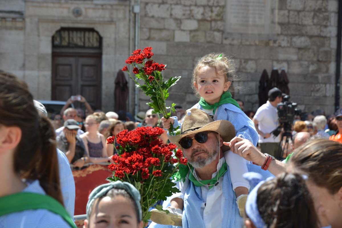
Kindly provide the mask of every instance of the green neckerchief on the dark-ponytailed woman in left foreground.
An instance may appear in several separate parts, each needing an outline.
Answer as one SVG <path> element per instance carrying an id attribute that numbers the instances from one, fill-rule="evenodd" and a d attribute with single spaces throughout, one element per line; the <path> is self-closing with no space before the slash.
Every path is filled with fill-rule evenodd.
<path id="1" fill-rule="evenodd" d="M 76 228 L 73 219 L 63 205 L 48 195 L 32 192 L 19 192 L 0 197 L 0 216 L 26 210 L 49 210 L 60 215 L 70 227 Z"/>

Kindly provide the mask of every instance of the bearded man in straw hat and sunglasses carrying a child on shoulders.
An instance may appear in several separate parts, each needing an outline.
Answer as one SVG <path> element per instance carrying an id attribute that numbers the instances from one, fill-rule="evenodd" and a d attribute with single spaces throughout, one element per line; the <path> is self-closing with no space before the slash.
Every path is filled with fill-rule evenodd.
<path id="1" fill-rule="evenodd" d="M 206 112 L 196 108 L 186 111 L 181 134 L 168 136 L 188 159 L 188 166 L 184 167 L 189 183 L 184 193 L 183 227 L 242 227 L 243 218 L 235 202 L 229 167 L 223 156 L 223 151 L 229 150 L 223 142 L 230 142 L 234 136 L 231 122 L 214 121 Z M 260 166 L 247 166 L 250 172 L 261 173 L 264 178 L 272 176 Z M 150 227 L 171 226 L 152 223 Z"/>

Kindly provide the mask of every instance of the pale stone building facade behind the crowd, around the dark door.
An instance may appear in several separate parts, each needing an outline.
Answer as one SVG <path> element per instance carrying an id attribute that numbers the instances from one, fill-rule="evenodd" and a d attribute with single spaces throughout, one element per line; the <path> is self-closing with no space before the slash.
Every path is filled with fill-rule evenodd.
<path id="1" fill-rule="evenodd" d="M 243 0 L 247 3 L 258 0 Z M 14 2 L 17 2 L 15 4 Z M 233 0 L 141 0 L 139 46 L 152 46 L 155 60 L 167 64 L 165 77 L 182 76 L 170 91 L 169 103 L 189 108 L 197 102 L 190 86 L 192 69 L 210 52 L 233 57 L 240 81 L 235 98 L 245 109 L 258 108 L 258 85 L 263 69 L 285 68 L 291 100 L 304 111 L 334 111 L 337 49 L 337 0 L 270 0 L 267 36 L 227 29 L 226 6 Z M 264 2 L 264 1 L 261 1 Z M 6 4 L 5 4 L 6 3 Z M 51 99 L 52 36 L 62 27 L 94 28 L 102 43 L 102 109 L 113 109 L 114 76 L 134 50 L 138 2 L 124 0 L 2 1 L 0 69 L 29 84 L 37 99 Z M 81 16 L 73 15 L 79 7 Z M 15 11 L 15 12 L 10 12 Z M 18 13 L 19 12 L 19 13 Z M 20 12 L 22 12 L 20 14 Z M 271 34 L 271 35 L 270 35 Z M 129 107 L 134 111 L 130 82 Z M 100 95 L 100 94 L 99 94 Z M 148 109 L 139 93 L 138 110 Z"/>

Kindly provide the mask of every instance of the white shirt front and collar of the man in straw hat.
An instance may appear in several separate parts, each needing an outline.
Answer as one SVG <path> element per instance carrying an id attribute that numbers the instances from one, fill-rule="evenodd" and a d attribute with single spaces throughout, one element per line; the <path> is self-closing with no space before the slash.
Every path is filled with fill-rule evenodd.
<path id="1" fill-rule="evenodd" d="M 220 159 L 217 170 L 220 170 L 225 161 L 224 157 Z M 212 174 L 212 178 L 214 178 L 216 174 L 217 171 Z M 195 170 L 194 176 L 197 180 L 201 180 Z M 201 205 L 201 216 L 207 228 L 222 227 L 224 205 L 226 201 L 223 196 L 222 183 L 223 176 L 219 178 L 219 184 L 212 187 L 210 190 L 208 186 L 201 187 L 201 197 L 204 199 L 204 202 Z"/>

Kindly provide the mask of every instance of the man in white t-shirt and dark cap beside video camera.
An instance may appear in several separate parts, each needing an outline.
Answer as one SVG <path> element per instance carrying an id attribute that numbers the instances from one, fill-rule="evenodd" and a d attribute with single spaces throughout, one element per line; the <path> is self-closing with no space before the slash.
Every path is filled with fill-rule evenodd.
<path id="1" fill-rule="evenodd" d="M 280 135 L 275 137 L 271 132 L 279 125 L 277 104 L 281 102 L 281 99 L 282 93 L 278 88 L 269 90 L 266 104 L 258 108 L 252 120 L 259 134 L 261 151 L 276 158 L 280 157 Z"/>

